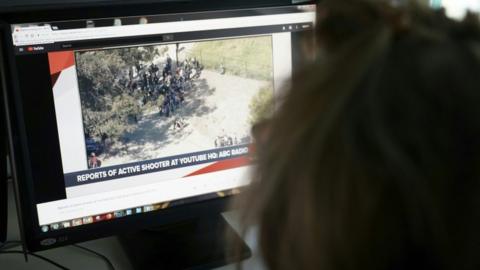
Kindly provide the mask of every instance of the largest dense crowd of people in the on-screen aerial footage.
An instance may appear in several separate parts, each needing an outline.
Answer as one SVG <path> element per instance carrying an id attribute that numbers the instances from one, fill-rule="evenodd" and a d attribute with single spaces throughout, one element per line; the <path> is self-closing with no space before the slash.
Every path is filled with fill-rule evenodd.
<path id="1" fill-rule="evenodd" d="M 192 81 L 200 77 L 202 69 L 196 58 L 174 65 L 172 58 L 167 57 L 162 69 L 153 62 L 129 69 L 124 84 L 132 93 L 142 93 L 142 105 L 157 102 L 160 114 L 170 117 L 183 103 L 185 93 L 192 89 Z"/>

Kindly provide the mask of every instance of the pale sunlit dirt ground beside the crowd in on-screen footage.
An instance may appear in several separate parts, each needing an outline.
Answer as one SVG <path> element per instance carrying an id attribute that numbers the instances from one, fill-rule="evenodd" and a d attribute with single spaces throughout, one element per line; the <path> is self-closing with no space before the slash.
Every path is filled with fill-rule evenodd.
<path id="1" fill-rule="evenodd" d="M 268 83 L 204 70 L 173 116 L 143 116 L 125 142 L 99 157 L 102 166 L 212 149 L 220 135 L 248 136 L 250 102 Z M 175 119 L 182 119 L 186 127 L 174 130 Z"/>

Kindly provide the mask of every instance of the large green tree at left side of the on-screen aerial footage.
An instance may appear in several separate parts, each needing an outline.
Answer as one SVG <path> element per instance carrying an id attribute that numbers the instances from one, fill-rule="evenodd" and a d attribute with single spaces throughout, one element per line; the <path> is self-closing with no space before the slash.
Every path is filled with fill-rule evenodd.
<path id="1" fill-rule="evenodd" d="M 137 124 L 141 108 L 138 95 L 124 82 L 128 70 L 153 62 L 166 46 L 78 52 L 77 77 L 85 133 L 90 137 L 119 139 Z"/>

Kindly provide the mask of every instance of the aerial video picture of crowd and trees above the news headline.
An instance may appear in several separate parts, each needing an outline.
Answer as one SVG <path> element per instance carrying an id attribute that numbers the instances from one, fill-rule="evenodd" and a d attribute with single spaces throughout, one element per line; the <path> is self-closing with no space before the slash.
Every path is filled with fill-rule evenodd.
<path id="1" fill-rule="evenodd" d="M 75 52 L 88 167 L 251 143 L 271 36 Z"/>

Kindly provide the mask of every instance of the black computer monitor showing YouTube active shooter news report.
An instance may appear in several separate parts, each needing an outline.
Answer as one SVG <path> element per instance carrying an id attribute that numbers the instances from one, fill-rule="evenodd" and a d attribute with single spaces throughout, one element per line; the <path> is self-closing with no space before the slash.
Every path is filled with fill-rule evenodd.
<path id="1" fill-rule="evenodd" d="M 3 64 L 31 251 L 223 211 L 315 22 L 315 5 L 27 11 L 4 17 Z"/>

